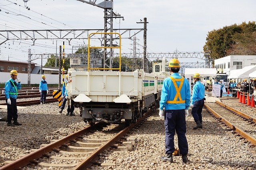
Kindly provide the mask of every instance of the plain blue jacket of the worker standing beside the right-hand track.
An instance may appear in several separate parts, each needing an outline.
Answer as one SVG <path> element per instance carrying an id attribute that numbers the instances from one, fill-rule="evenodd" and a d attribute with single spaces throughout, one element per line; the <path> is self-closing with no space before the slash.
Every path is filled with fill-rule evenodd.
<path id="1" fill-rule="evenodd" d="M 197 81 L 193 87 L 191 104 L 194 104 L 196 101 L 202 100 L 203 98 L 204 98 L 204 84 L 202 84 L 200 81 Z"/>

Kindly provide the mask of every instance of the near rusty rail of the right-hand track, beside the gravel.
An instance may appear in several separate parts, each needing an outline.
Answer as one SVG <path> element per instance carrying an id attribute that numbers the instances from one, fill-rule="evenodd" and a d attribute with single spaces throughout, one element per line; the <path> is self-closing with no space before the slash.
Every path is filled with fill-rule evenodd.
<path id="1" fill-rule="evenodd" d="M 231 122 L 229 122 L 228 120 L 226 120 L 225 118 L 223 118 L 220 114 L 218 114 L 217 112 L 215 112 L 212 108 L 210 108 L 210 106 L 208 106 L 207 104 L 204 104 L 204 106 L 210 111 L 212 112 L 212 114 L 214 114 L 214 116 L 216 116 L 217 118 L 220 118 L 220 120 L 222 122 L 224 122 L 228 127 L 230 127 L 232 130 L 234 130 L 235 132 L 237 132 L 238 134 L 240 134 L 242 137 L 246 138 L 246 140 L 248 140 L 249 142 L 251 142 L 251 144 L 253 144 L 254 146 L 256 146 L 256 138 L 250 136 L 250 134 L 244 132 L 242 129 L 238 128 L 237 126 L 235 126 L 234 124 L 232 124 Z"/>

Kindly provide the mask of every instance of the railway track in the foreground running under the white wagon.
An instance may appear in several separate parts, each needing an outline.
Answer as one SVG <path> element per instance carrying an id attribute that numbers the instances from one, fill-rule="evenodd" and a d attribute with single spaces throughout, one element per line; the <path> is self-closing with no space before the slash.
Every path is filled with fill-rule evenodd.
<path id="1" fill-rule="evenodd" d="M 99 156 L 104 156 L 104 154 L 101 153 L 104 150 L 110 150 L 110 148 L 118 149 L 127 147 L 126 151 L 128 148 L 131 149 L 134 142 L 128 141 L 125 136 L 136 125 L 144 122 L 146 117 L 152 113 L 153 110 L 149 110 L 142 118 L 138 119 L 136 123 L 128 127 L 125 127 L 124 123 L 108 124 L 107 126 L 104 123 L 96 123 L 95 126 L 87 126 L 78 132 L 65 136 L 22 158 L 10 162 L 0 168 L 0 170 L 21 169 L 27 165 L 30 167 L 40 166 L 46 169 L 50 167 L 54 167 L 55 169 L 73 168 L 73 170 L 84 170 L 93 164 L 104 166 L 101 162 L 95 162 L 98 160 Z M 97 139 L 90 139 L 92 135 L 95 135 Z M 74 162 L 74 160 L 76 163 L 70 163 Z"/>

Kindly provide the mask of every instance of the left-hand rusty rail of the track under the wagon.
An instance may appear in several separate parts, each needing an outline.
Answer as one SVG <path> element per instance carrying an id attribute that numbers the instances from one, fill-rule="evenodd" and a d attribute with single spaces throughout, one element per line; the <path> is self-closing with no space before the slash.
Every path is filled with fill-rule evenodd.
<path id="1" fill-rule="evenodd" d="M 97 123 L 99 124 L 99 123 Z M 17 160 L 14 160 L 10 164 L 7 164 L 0 168 L 0 170 L 15 170 L 20 169 L 28 164 L 31 163 L 31 161 L 41 158 L 45 153 L 51 152 L 54 148 L 58 148 L 68 142 L 70 140 L 73 140 L 77 138 L 78 136 L 82 136 L 83 134 L 86 134 L 93 130 L 92 126 L 87 126 L 86 128 L 79 130 L 78 132 L 75 132 L 73 134 L 70 134 L 66 136 L 65 138 L 61 138 L 53 143 L 50 143 L 34 152 L 31 152 L 30 154 L 27 154 L 26 156 L 23 156 L 22 158 L 19 158 Z"/>

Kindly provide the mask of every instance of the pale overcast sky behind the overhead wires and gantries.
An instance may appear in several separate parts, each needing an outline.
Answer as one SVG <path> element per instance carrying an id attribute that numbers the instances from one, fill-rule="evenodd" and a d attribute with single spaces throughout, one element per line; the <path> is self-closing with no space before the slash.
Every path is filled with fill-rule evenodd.
<path id="1" fill-rule="evenodd" d="M 89 1 L 89 0 L 88 0 Z M 104 0 L 96 0 L 96 4 Z M 232 24 L 255 21 L 255 0 L 113 0 L 113 11 L 124 17 L 113 28 L 143 28 L 147 18 L 147 52 L 202 52 L 208 32 Z M 16 4 L 14 4 L 16 3 Z M 28 10 L 26 7 L 30 8 Z M 0 30 L 103 29 L 104 9 L 78 0 L 0 0 Z M 137 52 L 143 53 L 143 32 L 136 35 Z M 4 38 L 0 36 L 0 43 Z M 65 53 L 87 40 L 8 40 L 0 45 L 0 60 L 28 61 L 32 54 L 55 54 L 65 43 Z M 95 42 L 100 44 L 100 42 Z M 122 41 L 122 52 L 132 53 L 133 41 Z M 57 50 L 58 51 L 58 50 Z M 58 52 L 59 53 L 59 52 Z M 178 58 L 181 62 L 204 62 Z M 41 59 L 34 60 L 41 64 Z M 43 59 L 44 65 L 46 59 Z"/>

